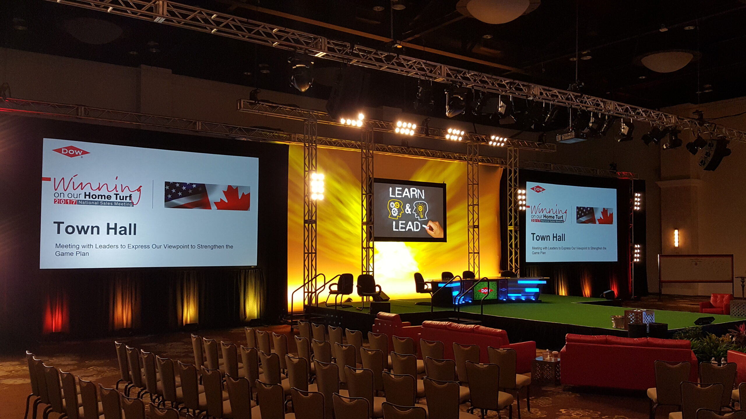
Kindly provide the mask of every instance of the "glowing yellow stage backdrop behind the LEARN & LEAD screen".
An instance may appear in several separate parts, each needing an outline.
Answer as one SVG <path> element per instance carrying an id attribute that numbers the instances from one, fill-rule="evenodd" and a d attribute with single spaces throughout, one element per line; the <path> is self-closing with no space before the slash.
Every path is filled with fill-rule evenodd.
<path id="1" fill-rule="evenodd" d="M 360 274 L 360 152 L 319 148 L 318 171 L 325 174 L 325 198 L 317 212 L 317 271 L 327 278 Z M 448 242 L 377 242 L 374 277 L 390 297 L 416 298 L 414 277 L 439 278 L 442 271 L 460 275 L 468 268 L 466 163 L 375 155 L 375 177 L 446 183 Z M 500 266 L 501 168 L 480 166 L 480 275 L 496 276 Z M 290 293 L 303 283 L 303 148 L 289 148 L 288 307 Z M 357 294 L 351 295 L 359 300 Z M 322 294 L 319 300 L 324 300 Z M 301 292 L 295 294 L 300 309 Z"/>

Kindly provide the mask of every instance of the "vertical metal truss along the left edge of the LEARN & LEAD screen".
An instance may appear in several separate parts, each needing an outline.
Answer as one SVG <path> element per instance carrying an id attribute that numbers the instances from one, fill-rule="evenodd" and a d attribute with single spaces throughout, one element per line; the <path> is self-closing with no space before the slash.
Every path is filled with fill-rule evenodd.
<path id="1" fill-rule="evenodd" d="M 361 224 L 361 269 L 363 274 L 373 274 L 374 233 L 373 233 L 373 151 L 375 148 L 373 130 L 363 129 L 360 141 L 360 201 Z"/>

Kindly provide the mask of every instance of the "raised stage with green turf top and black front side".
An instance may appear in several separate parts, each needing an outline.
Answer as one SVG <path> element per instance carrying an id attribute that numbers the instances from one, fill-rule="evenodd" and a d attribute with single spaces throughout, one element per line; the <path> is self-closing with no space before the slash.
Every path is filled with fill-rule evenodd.
<path id="1" fill-rule="evenodd" d="M 611 327 L 612 315 L 624 315 L 625 308 L 609 304 L 601 298 L 572 297 L 554 294 L 542 294 L 541 303 L 492 303 L 484 305 L 484 315 L 480 314 L 479 305 L 462 306 L 460 312 L 453 309 L 416 305 L 416 302 L 428 301 L 427 298 L 410 300 L 391 300 L 391 312 L 401 315 L 402 321 L 419 325 L 426 320 L 445 320 L 463 318 L 481 321 L 484 326 L 496 327 L 507 331 L 510 341 L 536 341 L 537 347 L 559 350 L 565 341 L 566 333 L 583 335 L 618 335 L 626 336 L 626 330 Z M 348 303 L 352 307 L 306 306 L 308 312 L 331 317 L 330 324 L 342 327 L 354 327 L 359 330 L 370 330 L 374 316 L 368 309 L 360 311 L 360 302 Z M 367 306 L 367 304 L 366 304 Z M 732 318 L 730 315 L 703 315 L 697 312 L 677 312 L 655 310 L 656 322 L 668 324 L 669 333 L 685 327 L 694 326 L 700 317 L 715 318 L 715 321 L 704 327 L 705 330 L 723 334 L 746 318 Z"/>

